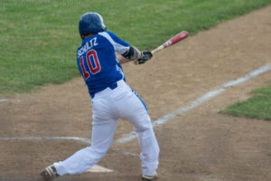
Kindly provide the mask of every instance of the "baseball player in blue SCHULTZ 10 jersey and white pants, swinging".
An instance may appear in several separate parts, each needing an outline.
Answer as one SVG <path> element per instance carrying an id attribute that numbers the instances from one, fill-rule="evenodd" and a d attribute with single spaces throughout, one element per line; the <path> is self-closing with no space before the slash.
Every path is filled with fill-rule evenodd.
<path id="1" fill-rule="evenodd" d="M 116 34 L 106 31 L 103 18 L 97 13 L 80 17 L 79 34 L 82 44 L 77 51 L 77 62 L 92 100 L 91 146 L 45 167 L 42 176 L 51 180 L 65 174 L 80 174 L 96 165 L 107 153 L 117 119 L 125 119 L 134 125 L 138 135 L 142 179 L 153 180 L 157 176 L 159 146 L 145 103 L 126 84 L 120 65 L 135 60 L 139 64 L 145 63 L 152 58 L 152 52 L 139 52 Z"/>

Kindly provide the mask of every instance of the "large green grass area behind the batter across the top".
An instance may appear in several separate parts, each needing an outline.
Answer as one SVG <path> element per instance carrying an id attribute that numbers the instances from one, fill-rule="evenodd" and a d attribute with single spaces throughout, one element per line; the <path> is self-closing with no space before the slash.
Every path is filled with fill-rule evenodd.
<path id="1" fill-rule="evenodd" d="M 29 92 L 79 76 L 79 16 L 98 12 L 108 30 L 151 50 L 182 30 L 191 35 L 271 0 L 1 0 L 0 94 Z"/>

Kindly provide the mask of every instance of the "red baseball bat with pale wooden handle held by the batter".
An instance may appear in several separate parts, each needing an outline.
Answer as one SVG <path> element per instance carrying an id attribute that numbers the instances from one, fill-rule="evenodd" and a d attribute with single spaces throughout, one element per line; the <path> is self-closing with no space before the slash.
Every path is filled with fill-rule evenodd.
<path id="1" fill-rule="evenodd" d="M 155 48 L 152 51 L 152 53 L 154 54 L 155 52 L 159 52 L 159 51 L 163 50 L 164 48 L 173 45 L 174 43 L 178 43 L 178 42 L 182 41 L 183 39 L 185 39 L 187 36 L 188 36 L 188 32 L 186 32 L 186 31 L 182 31 L 181 33 L 177 33 L 172 38 L 170 38 L 168 41 L 166 41 L 165 43 L 163 43 L 160 46 L 158 46 L 157 48 Z M 137 60 L 135 61 L 135 64 L 138 64 Z"/>

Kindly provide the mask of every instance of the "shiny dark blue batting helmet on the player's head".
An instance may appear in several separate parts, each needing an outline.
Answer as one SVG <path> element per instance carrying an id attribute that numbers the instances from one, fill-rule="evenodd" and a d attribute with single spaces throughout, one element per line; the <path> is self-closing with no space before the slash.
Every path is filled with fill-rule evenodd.
<path id="1" fill-rule="evenodd" d="M 103 18 L 98 13 L 87 13 L 80 17 L 79 33 L 82 39 L 89 33 L 103 32 L 106 29 Z"/>

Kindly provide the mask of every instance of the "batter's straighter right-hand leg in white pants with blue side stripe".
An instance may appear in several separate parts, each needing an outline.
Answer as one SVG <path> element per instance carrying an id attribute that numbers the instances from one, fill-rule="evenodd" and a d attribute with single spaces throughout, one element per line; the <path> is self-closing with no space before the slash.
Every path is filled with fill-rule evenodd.
<path id="1" fill-rule="evenodd" d="M 143 174 L 154 176 L 158 167 L 159 146 L 154 135 L 153 125 L 143 100 L 141 100 L 129 87 L 122 99 L 117 100 L 117 108 L 122 119 L 126 119 L 135 127 L 142 153 Z"/>

